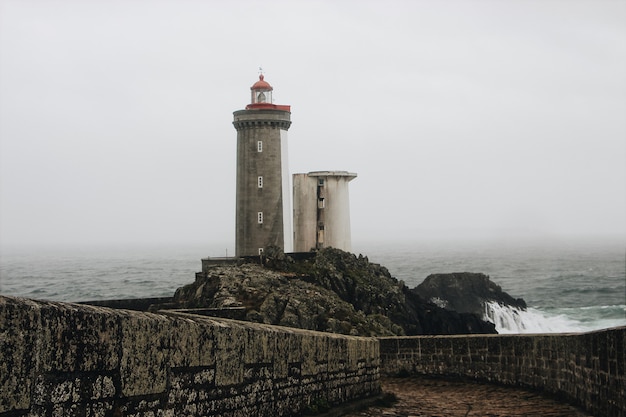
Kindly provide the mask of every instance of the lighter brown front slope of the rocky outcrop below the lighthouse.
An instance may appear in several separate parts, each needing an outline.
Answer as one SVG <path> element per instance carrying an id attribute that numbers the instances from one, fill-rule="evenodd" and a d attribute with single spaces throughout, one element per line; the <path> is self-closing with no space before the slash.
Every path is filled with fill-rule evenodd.
<path id="1" fill-rule="evenodd" d="M 343 334 L 394 335 L 390 320 L 368 317 L 330 290 L 260 265 L 215 266 L 174 295 L 179 308 L 244 307 L 248 321 Z"/>

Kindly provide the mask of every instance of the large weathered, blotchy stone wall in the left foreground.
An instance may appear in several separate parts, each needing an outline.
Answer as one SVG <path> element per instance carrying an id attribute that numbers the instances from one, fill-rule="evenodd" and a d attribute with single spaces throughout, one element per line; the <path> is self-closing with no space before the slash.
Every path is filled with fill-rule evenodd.
<path id="1" fill-rule="evenodd" d="M 0 416 L 282 416 L 377 394 L 375 339 L 0 297 Z"/>

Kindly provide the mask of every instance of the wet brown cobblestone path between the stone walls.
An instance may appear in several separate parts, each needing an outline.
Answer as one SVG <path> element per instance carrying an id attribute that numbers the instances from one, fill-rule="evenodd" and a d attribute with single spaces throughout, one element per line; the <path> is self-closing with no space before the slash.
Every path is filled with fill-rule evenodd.
<path id="1" fill-rule="evenodd" d="M 395 404 L 347 416 L 591 416 L 540 393 L 500 385 L 411 377 L 383 379 L 382 386 L 396 395 Z"/>

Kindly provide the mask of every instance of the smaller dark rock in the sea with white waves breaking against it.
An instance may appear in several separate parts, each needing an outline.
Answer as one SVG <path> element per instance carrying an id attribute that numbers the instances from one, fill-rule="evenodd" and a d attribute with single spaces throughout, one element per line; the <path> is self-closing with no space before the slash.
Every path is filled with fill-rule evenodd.
<path id="1" fill-rule="evenodd" d="M 485 312 L 485 302 L 489 301 L 526 309 L 524 300 L 511 297 L 491 281 L 489 276 L 481 273 L 429 275 L 413 292 L 448 310 L 473 313 L 481 317 Z"/>

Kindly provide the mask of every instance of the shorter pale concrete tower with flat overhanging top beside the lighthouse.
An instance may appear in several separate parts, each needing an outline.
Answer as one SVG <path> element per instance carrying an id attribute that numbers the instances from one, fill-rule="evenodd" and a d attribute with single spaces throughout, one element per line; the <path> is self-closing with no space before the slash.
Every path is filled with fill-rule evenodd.
<path id="1" fill-rule="evenodd" d="M 316 171 L 293 176 L 294 250 L 352 250 L 348 183 L 356 174 Z"/>

